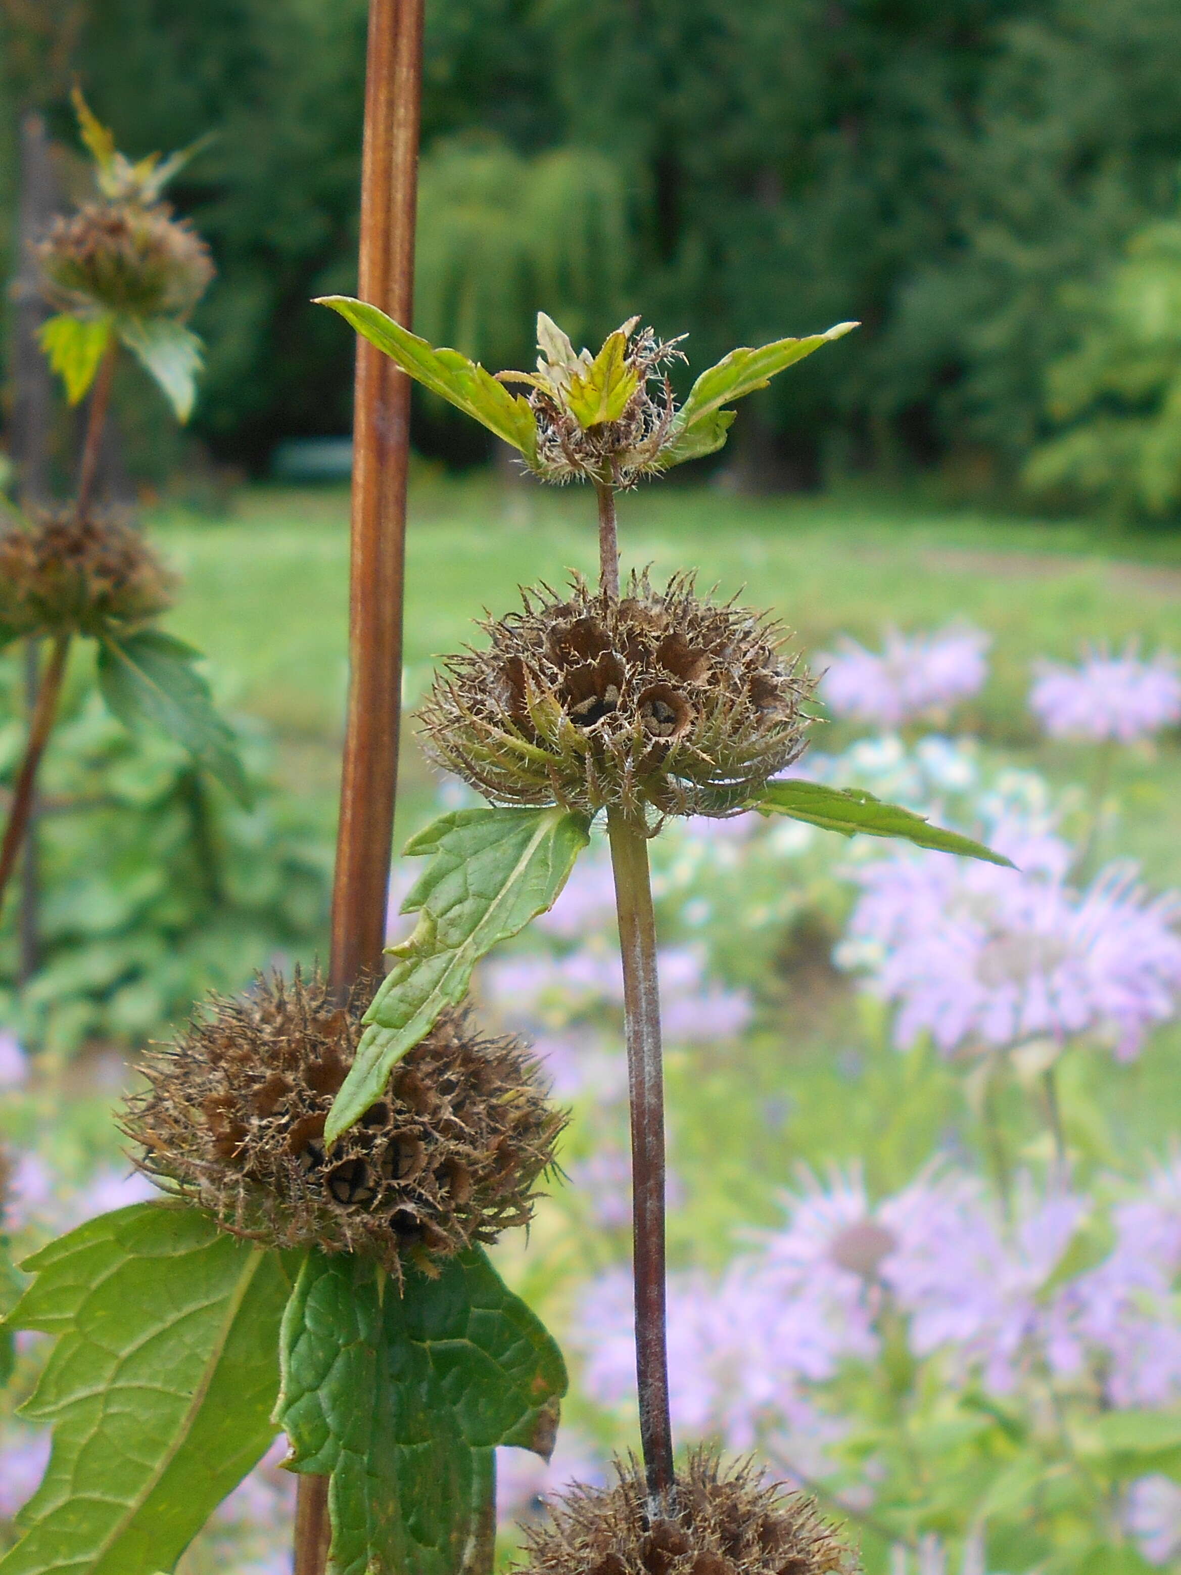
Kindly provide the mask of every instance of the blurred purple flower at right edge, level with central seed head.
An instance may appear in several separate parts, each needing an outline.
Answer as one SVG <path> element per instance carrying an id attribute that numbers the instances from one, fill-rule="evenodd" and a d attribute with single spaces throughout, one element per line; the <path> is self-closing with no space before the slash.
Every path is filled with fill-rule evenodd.
<path id="1" fill-rule="evenodd" d="M 1181 676 L 1165 652 L 1140 662 L 1129 643 L 1118 657 L 1090 649 L 1077 668 L 1038 662 L 1033 671 L 1030 709 L 1052 739 L 1131 743 L 1181 720 Z"/>

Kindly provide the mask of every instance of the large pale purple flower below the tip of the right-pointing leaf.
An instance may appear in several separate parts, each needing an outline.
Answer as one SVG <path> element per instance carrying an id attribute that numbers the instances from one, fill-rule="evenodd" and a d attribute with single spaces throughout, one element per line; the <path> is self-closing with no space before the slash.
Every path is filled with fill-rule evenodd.
<path id="1" fill-rule="evenodd" d="M 1001 827 L 994 846 L 1020 869 L 912 852 L 858 869 L 838 961 L 898 1005 L 899 1046 L 929 1033 L 953 1055 L 1093 1035 L 1131 1060 L 1176 1011 L 1181 896 L 1150 898 L 1126 863 L 1079 893 L 1052 836 L 1022 846 Z"/>

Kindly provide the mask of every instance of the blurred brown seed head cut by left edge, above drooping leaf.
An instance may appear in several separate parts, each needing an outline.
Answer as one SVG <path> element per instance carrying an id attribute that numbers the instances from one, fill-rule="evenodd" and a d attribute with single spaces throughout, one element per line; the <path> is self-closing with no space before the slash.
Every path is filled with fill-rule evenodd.
<path id="1" fill-rule="evenodd" d="M 0 531 L 0 630 L 101 635 L 172 605 L 175 580 L 143 536 L 113 515 L 44 510 Z"/>

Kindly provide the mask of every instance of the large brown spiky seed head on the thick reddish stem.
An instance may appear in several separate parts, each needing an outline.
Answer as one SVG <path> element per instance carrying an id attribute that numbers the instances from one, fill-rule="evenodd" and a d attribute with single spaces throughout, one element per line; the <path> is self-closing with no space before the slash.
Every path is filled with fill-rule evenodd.
<path id="1" fill-rule="evenodd" d="M 446 1011 L 324 1148 L 372 995 L 370 980 L 339 1006 L 296 972 L 216 997 L 142 1068 L 151 1087 L 123 1121 L 139 1167 L 231 1232 L 365 1254 L 391 1273 L 528 1224 L 565 1117 L 521 1043 L 482 1038 L 465 1011 Z"/>

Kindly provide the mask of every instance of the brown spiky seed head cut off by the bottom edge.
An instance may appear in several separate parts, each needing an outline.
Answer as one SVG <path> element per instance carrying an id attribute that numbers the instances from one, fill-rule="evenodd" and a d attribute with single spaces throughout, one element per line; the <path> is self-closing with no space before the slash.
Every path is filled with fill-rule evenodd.
<path id="1" fill-rule="evenodd" d="M 676 1512 L 650 1520 L 644 1476 L 573 1487 L 526 1531 L 524 1575 L 853 1575 L 857 1556 L 814 1503 L 751 1465 L 723 1473 L 710 1451 L 677 1476 Z"/>

